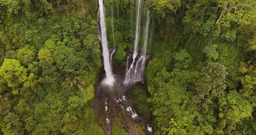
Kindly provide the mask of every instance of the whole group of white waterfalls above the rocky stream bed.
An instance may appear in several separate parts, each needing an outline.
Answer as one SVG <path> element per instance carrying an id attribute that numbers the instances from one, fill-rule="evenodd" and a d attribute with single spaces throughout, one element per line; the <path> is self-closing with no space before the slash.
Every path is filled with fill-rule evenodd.
<path id="1" fill-rule="evenodd" d="M 108 49 L 108 40 L 106 35 L 106 28 L 105 28 L 105 15 L 104 15 L 104 5 L 103 0 L 99 1 L 99 20 L 100 20 L 100 41 L 102 46 L 102 54 L 103 54 L 103 64 L 104 70 L 106 72 L 106 77 L 103 80 L 105 84 L 112 85 L 115 81 L 115 78 L 112 73 L 112 56 L 115 53 L 115 34 L 114 34 L 114 15 L 113 15 L 113 6 L 111 6 L 110 13 L 111 13 L 111 26 L 112 26 L 112 36 L 113 36 L 113 45 L 114 50 L 113 52 L 109 52 Z M 136 28 L 135 28 L 135 40 L 134 40 L 134 51 L 133 54 L 127 56 L 127 67 L 126 67 L 126 75 L 124 79 L 124 84 L 142 81 L 144 76 L 144 69 L 146 63 L 146 49 L 147 49 L 147 41 L 148 41 L 148 29 L 150 26 L 150 11 L 146 10 L 145 14 L 145 24 L 144 26 L 144 42 L 143 42 L 143 50 L 142 53 L 139 53 L 138 46 L 140 40 L 140 26 L 141 26 L 141 18 L 142 18 L 142 0 L 137 0 L 136 2 Z"/>

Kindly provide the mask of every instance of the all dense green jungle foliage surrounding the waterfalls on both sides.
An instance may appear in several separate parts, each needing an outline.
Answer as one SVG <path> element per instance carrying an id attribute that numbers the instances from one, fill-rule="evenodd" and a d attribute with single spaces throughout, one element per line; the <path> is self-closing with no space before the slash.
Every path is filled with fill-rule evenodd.
<path id="1" fill-rule="evenodd" d="M 113 63 L 125 65 L 136 1 L 104 3 Z M 255 134 L 256 1 L 143 4 L 154 28 L 145 71 L 150 95 L 136 87 L 131 102 L 153 119 L 155 134 Z M 97 10 L 89 0 L 0 0 L 4 134 L 103 134 L 91 108 L 102 67 Z M 114 125 L 112 133 L 125 130 Z"/>

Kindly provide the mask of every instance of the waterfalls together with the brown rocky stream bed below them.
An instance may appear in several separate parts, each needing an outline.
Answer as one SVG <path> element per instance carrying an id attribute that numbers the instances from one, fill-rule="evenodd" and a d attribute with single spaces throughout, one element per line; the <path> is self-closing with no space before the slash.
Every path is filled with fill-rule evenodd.
<path id="1" fill-rule="evenodd" d="M 108 7 L 109 5 L 107 5 Z M 135 6 L 134 6 L 135 7 Z M 94 98 L 94 113 L 95 118 L 99 120 L 99 123 L 102 124 L 102 128 L 104 129 L 104 134 L 110 135 L 112 133 L 112 125 L 121 122 L 125 127 L 129 129 L 129 132 L 132 134 L 141 133 L 141 131 L 137 131 L 135 124 L 139 124 L 145 134 L 150 135 L 154 134 L 152 129 L 152 124 L 150 120 L 147 120 L 137 112 L 133 107 L 133 104 L 129 102 L 129 98 L 126 98 L 129 95 L 128 92 L 132 87 L 133 83 L 141 81 L 143 82 L 144 76 L 144 68 L 146 60 L 148 60 L 148 56 L 146 55 L 147 49 L 147 41 L 148 41 L 148 29 L 150 25 L 150 12 L 147 10 L 145 16 L 145 24 L 143 24 L 143 32 L 144 32 L 144 42 L 143 42 L 143 51 L 139 53 L 138 46 L 139 46 L 139 38 L 140 38 L 140 25 L 141 25 L 141 18 L 142 18 L 142 0 L 137 0 L 137 10 L 136 10 L 136 30 L 135 30 L 135 41 L 134 41 L 134 51 L 133 53 L 129 53 L 127 56 L 127 68 L 126 68 L 126 77 L 124 83 L 129 85 L 120 85 L 120 79 L 122 78 L 121 73 L 116 73 L 116 78 L 114 78 L 112 73 L 112 57 L 117 51 L 115 48 L 115 34 L 114 34 L 114 15 L 113 15 L 113 6 L 110 7 L 110 15 L 111 15 L 111 24 L 108 26 L 112 27 L 112 36 L 113 36 L 113 46 L 114 49 L 109 52 L 108 48 L 108 38 L 106 35 L 106 28 L 105 28 L 105 16 L 104 16 L 104 5 L 103 0 L 99 0 L 99 21 L 100 27 L 98 27 L 99 38 L 101 40 L 102 46 L 102 54 L 103 54 L 103 64 L 104 70 L 106 72 L 106 77 L 103 81 L 99 81 L 97 90 L 95 91 L 95 98 Z M 133 15 L 131 15 L 133 16 Z M 134 16 L 133 16 L 134 17 Z M 99 25 L 98 25 L 99 26 Z M 109 35 L 111 37 L 111 35 Z M 117 47 L 120 47 L 118 42 Z M 131 51 L 132 52 L 132 51 Z M 116 70 L 115 70 L 116 71 Z M 118 76 L 120 75 L 120 76 Z M 102 79 L 100 77 L 100 79 Z M 131 85 L 130 85 L 131 83 Z M 109 84 L 111 91 L 106 91 L 109 88 Z M 145 85 L 145 84 L 141 84 Z M 126 96 L 125 96 L 126 95 Z M 137 114 L 138 113 L 138 114 Z M 119 119 L 122 120 L 119 120 Z M 102 123 L 103 120 L 103 123 Z M 122 122 L 123 121 L 123 122 Z M 131 129 L 131 130 L 130 130 Z M 135 132 L 135 133 L 134 133 Z"/>

